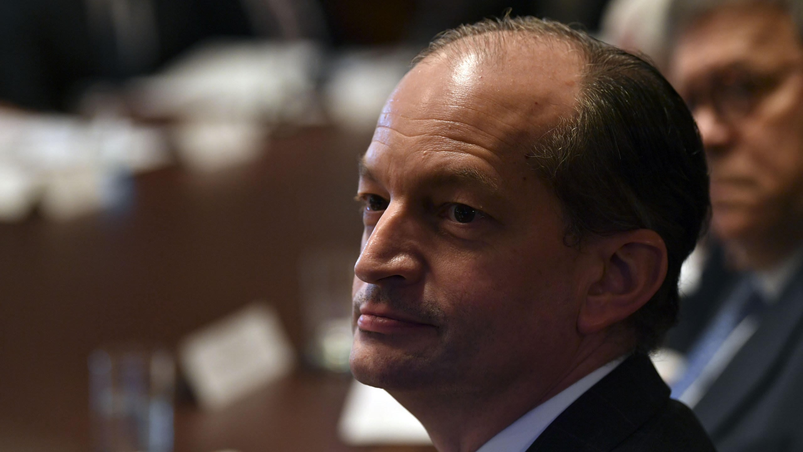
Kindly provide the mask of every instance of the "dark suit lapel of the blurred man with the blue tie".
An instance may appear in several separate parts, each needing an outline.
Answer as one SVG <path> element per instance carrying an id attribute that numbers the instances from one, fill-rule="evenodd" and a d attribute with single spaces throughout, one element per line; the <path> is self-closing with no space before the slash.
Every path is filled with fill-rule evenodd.
<path id="1" fill-rule="evenodd" d="M 803 333 L 803 269 L 778 302 L 764 312 L 760 327 L 695 406 L 716 441 L 748 409 L 783 364 L 786 348 Z"/>

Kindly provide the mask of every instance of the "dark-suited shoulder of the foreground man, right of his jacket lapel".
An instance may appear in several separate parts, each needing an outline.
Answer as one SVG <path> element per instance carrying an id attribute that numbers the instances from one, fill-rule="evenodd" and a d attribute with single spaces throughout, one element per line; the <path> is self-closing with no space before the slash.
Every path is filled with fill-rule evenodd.
<path id="1" fill-rule="evenodd" d="M 668 400 L 648 421 L 613 449 L 616 452 L 715 452 L 695 414 Z"/>

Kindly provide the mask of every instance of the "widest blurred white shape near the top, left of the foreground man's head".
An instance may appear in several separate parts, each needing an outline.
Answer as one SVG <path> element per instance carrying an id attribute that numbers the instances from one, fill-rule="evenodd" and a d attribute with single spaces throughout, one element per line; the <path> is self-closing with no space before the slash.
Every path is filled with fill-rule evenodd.
<path id="1" fill-rule="evenodd" d="M 142 113 L 196 121 L 302 121 L 315 100 L 315 43 L 210 43 L 137 80 Z"/>

